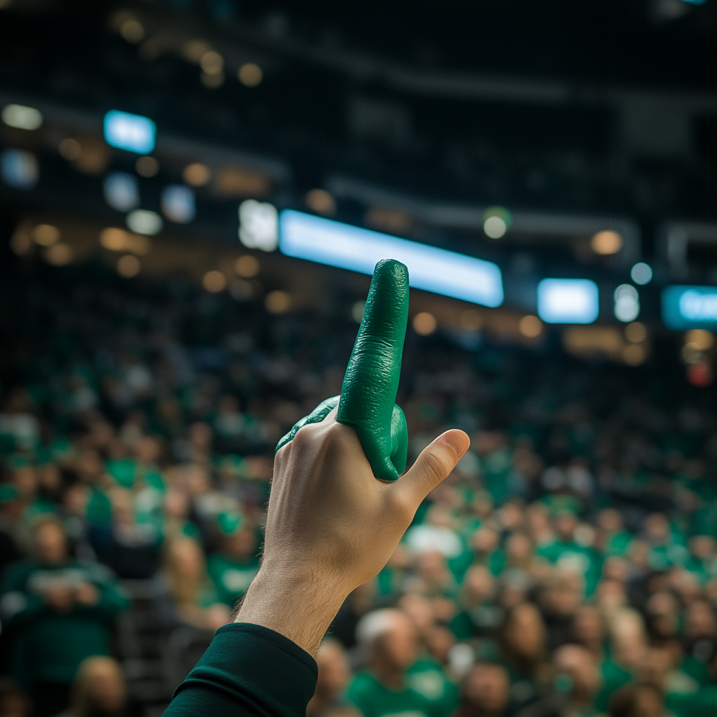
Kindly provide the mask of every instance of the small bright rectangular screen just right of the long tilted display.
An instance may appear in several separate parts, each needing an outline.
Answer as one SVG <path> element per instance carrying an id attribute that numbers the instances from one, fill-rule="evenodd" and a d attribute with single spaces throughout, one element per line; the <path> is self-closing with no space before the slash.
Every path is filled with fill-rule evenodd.
<path id="1" fill-rule="evenodd" d="M 538 284 L 538 316 L 546 323 L 592 323 L 599 313 L 594 281 L 543 279 Z"/>

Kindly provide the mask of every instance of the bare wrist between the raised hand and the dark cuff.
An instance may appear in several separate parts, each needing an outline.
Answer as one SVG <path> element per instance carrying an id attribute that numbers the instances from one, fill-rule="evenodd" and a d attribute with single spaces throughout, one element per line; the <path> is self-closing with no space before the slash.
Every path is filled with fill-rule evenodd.
<path id="1" fill-rule="evenodd" d="M 279 632 L 315 655 L 350 588 L 310 569 L 262 565 L 234 622 L 251 622 Z"/>

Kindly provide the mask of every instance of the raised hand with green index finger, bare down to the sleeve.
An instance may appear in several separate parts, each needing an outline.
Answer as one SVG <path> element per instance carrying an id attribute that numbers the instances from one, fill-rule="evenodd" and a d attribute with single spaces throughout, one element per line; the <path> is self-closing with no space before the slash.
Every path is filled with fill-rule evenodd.
<path id="1" fill-rule="evenodd" d="M 407 451 L 394 406 L 407 279 L 399 262 L 379 262 L 341 397 L 277 448 L 264 559 L 237 621 L 276 630 L 312 654 L 348 593 L 386 564 L 421 501 L 470 443 L 447 431 L 396 480 Z"/>

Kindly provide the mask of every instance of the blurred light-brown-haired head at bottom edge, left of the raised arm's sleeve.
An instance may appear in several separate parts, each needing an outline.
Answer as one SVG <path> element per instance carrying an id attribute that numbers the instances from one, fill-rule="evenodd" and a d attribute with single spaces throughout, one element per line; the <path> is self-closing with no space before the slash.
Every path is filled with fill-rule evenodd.
<path id="1" fill-rule="evenodd" d="M 122 668 L 112 657 L 86 657 L 72 684 L 77 717 L 95 717 L 120 710 L 127 696 Z"/>

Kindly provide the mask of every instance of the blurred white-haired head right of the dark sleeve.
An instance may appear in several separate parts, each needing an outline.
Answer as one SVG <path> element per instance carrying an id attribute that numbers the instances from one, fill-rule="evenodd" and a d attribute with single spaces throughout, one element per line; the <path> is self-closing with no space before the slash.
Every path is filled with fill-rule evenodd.
<path id="1" fill-rule="evenodd" d="M 356 640 L 366 650 L 376 670 L 402 671 L 418 655 L 417 630 L 409 617 L 397 609 L 374 610 L 356 625 Z"/>

